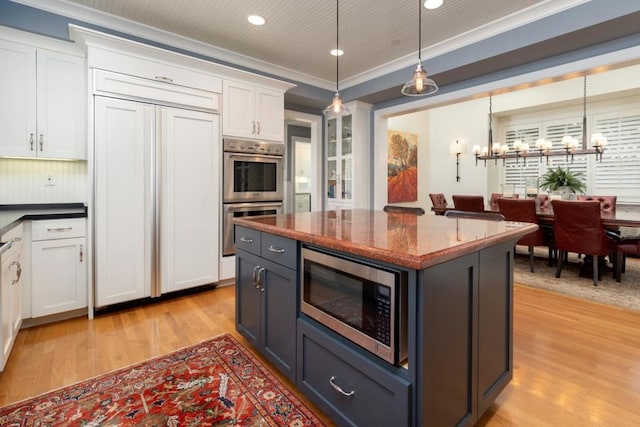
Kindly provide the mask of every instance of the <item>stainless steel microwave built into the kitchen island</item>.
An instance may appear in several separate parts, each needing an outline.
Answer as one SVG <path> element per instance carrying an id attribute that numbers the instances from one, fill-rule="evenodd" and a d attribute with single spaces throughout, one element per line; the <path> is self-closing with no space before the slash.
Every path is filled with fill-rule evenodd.
<path id="1" fill-rule="evenodd" d="M 302 313 L 385 361 L 407 357 L 406 273 L 302 248 Z"/>

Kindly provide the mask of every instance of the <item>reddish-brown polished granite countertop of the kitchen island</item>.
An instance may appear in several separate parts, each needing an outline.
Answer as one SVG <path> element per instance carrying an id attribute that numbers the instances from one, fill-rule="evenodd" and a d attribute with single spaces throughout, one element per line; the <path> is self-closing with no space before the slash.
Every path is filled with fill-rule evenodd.
<path id="1" fill-rule="evenodd" d="M 427 268 L 535 231 L 511 221 L 387 213 L 367 209 L 234 218 L 237 225 L 354 255 Z"/>

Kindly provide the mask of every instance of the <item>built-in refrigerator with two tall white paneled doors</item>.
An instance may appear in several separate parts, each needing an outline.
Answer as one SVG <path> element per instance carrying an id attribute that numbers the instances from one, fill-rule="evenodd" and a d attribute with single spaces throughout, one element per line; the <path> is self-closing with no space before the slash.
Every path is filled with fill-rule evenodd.
<path id="1" fill-rule="evenodd" d="M 94 114 L 95 306 L 216 282 L 219 115 L 102 96 Z"/>

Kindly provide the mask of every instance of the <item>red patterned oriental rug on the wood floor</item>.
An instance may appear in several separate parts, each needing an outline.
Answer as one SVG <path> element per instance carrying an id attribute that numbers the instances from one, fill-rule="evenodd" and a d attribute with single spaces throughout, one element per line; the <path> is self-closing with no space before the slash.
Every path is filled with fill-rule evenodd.
<path id="1" fill-rule="evenodd" d="M 0 426 L 321 426 L 233 336 L 0 408 Z"/>

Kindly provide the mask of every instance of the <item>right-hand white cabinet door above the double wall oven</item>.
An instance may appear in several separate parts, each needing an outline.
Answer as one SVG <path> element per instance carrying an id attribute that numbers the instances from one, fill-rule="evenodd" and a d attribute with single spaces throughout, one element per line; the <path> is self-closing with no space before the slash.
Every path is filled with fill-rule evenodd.
<path id="1" fill-rule="evenodd" d="M 258 88 L 256 91 L 256 136 L 284 141 L 284 94 Z"/>

